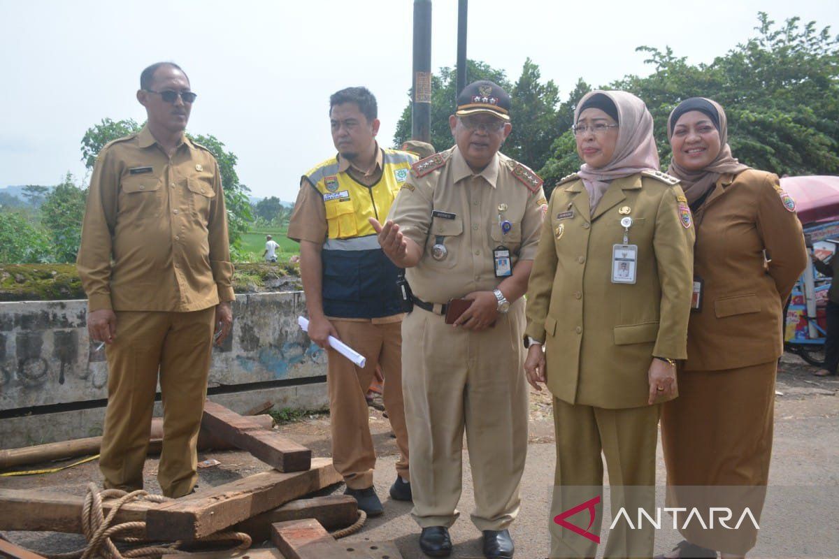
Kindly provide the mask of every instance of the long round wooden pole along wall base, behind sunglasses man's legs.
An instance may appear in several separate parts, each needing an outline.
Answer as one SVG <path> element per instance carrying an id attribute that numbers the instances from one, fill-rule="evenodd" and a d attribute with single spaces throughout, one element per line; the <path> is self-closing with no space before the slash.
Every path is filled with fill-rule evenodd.
<path id="1" fill-rule="evenodd" d="M 274 426 L 274 419 L 268 415 L 248 417 L 248 419 L 257 423 L 261 429 L 270 429 Z M 162 437 L 163 419 L 154 417 L 152 419 L 151 440 L 149 441 L 149 454 L 160 453 L 160 448 L 163 443 Z M 74 458 L 76 456 L 86 456 L 88 454 L 98 454 L 101 446 L 102 437 L 86 437 L 61 441 L 59 443 L 39 444 L 33 447 L 0 450 L 0 469 Z M 227 450 L 237 447 L 219 437 L 214 437 L 206 429 L 201 429 L 198 433 L 198 449 L 205 450 L 207 448 Z"/>

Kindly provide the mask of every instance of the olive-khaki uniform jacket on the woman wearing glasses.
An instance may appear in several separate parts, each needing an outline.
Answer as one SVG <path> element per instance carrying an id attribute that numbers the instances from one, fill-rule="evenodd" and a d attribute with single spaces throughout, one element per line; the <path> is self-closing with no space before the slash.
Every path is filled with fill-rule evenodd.
<path id="1" fill-rule="evenodd" d="M 616 179 L 590 215 L 581 179 L 551 194 L 530 273 L 526 334 L 545 340 L 548 388 L 571 404 L 646 406 L 654 355 L 685 359 L 694 231 L 677 180 Z M 623 211 L 623 213 L 622 213 Z M 637 279 L 612 283 L 620 220 L 633 219 Z"/>

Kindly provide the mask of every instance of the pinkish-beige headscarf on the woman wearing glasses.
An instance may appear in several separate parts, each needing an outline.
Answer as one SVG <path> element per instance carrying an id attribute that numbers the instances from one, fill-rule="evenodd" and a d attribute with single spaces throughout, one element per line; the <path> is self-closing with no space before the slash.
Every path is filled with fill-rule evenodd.
<path id="1" fill-rule="evenodd" d="M 580 118 L 580 107 L 591 96 L 607 96 L 618 109 L 618 143 L 612 160 L 605 167 L 591 168 L 583 163 L 577 173 L 586 185 L 591 212 L 614 179 L 628 177 L 646 169 L 659 170 L 659 152 L 653 138 L 653 116 L 644 101 L 626 91 L 591 91 L 577 103 L 574 122 Z"/>

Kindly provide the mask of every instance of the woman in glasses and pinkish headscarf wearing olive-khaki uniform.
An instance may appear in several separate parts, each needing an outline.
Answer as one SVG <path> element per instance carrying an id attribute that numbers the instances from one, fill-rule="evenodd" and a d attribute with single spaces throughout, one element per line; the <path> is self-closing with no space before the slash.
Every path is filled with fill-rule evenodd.
<path id="1" fill-rule="evenodd" d="M 686 356 L 694 236 L 678 181 L 658 171 L 644 101 L 592 91 L 576 107 L 574 133 L 584 163 L 556 185 L 545 215 L 524 368 L 554 396 L 551 556 L 593 557 L 601 454 L 613 512 L 654 506 L 659 407 L 676 396 L 675 360 Z M 588 531 L 565 520 L 576 505 L 592 515 Z M 652 556 L 653 536 L 620 523 L 605 554 Z"/>

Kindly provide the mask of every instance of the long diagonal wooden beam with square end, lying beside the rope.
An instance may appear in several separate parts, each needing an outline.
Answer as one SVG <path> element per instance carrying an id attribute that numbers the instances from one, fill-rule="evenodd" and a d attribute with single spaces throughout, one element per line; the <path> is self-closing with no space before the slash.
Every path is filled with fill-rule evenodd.
<path id="1" fill-rule="evenodd" d="M 331 458 L 315 458 L 305 472 L 270 470 L 149 509 L 146 532 L 151 540 L 195 540 L 340 481 Z"/>

